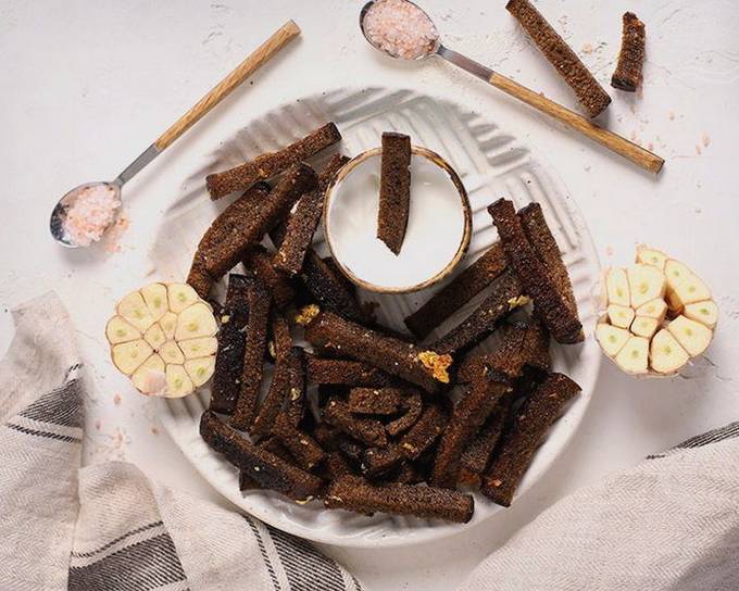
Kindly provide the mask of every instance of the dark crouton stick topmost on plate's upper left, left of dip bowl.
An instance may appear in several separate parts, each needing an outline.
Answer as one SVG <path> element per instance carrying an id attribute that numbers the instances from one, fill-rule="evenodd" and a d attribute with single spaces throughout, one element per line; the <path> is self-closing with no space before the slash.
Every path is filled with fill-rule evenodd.
<path id="1" fill-rule="evenodd" d="M 205 177 L 208 191 L 211 199 L 220 199 L 234 191 L 243 191 L 254 183 L 266 180 L 340 140 L 341 134 L 336 125 L 327 123 L 283 150 L 268 152 L 235 168 L 208 175 Z"/>

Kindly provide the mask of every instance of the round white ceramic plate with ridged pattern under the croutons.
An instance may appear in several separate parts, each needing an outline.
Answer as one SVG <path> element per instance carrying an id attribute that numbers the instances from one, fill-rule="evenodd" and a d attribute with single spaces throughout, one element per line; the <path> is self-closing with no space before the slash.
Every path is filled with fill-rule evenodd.
<path id="1" fill-rule="evenodd" d="M 190 255 L 202 232 L 226 205 L 210 201 L 204 187 L 205 174 L 286 146 L 327 121 L 336 122 L 341 130 L 343 141 L 339 149 L 348 155 L 379 146 L 383 131 L 397 130 L 410 134 L 414 143 L 438 152 L 454 167 L 467 189 L 473 211 L 469 251 L 458 272 L 497 239 L 486 211 L 490 202 L 508 197 L 517 206 L 530 201 L 541 203 L 567 264 L 588 338 L 579 345 L 554 345 L 552 349 L 555 369 L 576 380 L 583 387 L 583 393 L 539 448 L 518 489 L 517 495 L 523 494 L 564 451 L 590 402 L 601 360 L 598 344 L 591 338 L 596 324 L 591 292 L 600 268 L 592 239 L 562 181 L 518 142 L 511 130 L 502 130 L 497 122 L 428 96 L 385 88 L 341 89 L 275 109 L 228 139 L 185 181 L 184 194 L 167 212 L 152 251 L 160 279 L 181 280 L 187 275 Z M 326 154 L 322 154 L 318 160 L 325 158 Z M 316 235 L 316 249 L 326 251 L 321 231 Z M 371 292 L 362 296 L 380 303 L 378 314 L 384 324 L 402 330 L 402 319 L 443 285 L 403 296 Z M 469 302 L 439 331 L 443 332 L 468 314 L 481 297 Z M 165 429 L 216 490 L 274 527 L 310 540 L 363 548 L 408 545 L 451 536 L 468 527 L 385 514 L 366 517 L 326 511 L 317 502 L 299 506 L 271 492 L 242 494 L 236 468 L 212 452 L 198 433 L 208 398 L 208 391 L 203 391 L 180 400 L 162 400 L 160 412 Z M 472 523 L 493 521 L 501 511 L 505 510 L 475 494 Z"/>

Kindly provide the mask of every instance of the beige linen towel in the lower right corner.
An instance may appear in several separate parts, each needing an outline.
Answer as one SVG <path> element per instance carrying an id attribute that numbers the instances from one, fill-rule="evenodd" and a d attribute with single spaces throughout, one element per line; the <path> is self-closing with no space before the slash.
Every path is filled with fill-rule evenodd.
<path id="1" fill-rule="evenodd" d="M 650 456 L 555 503 L 459 591 L 737 591 L 738 465 L 739 422 Z"/>

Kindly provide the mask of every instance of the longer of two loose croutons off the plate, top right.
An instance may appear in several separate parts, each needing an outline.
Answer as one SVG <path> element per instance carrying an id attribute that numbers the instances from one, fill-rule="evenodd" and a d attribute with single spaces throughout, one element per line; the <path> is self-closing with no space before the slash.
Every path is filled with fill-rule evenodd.
<path id="1" fill-rule="evenodd" d="M 575 91 L 588 115 L 599 115 L 611 103 L 611 97 L 556 30 L 528 0 L 509 0 L 505 9 L 515 16 L 556 73 Z"/>

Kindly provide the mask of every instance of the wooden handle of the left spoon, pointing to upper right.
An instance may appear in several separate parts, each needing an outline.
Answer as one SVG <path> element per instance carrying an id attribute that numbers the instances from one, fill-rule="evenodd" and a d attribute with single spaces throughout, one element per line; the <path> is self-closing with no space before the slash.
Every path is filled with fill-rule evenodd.
<path id="1" fill-rule="evenodd" d="M 197 104 L 172 124 L 154 141 L 156 149 L 161 152 L 175 141 L 298 35 L 300 35 L 300 27 L 292 21 L 288 21 L 279 27 L 266 41 L 237 65 L 230 74 L 213 87 L 208 95 L 200 99 Z"/>

